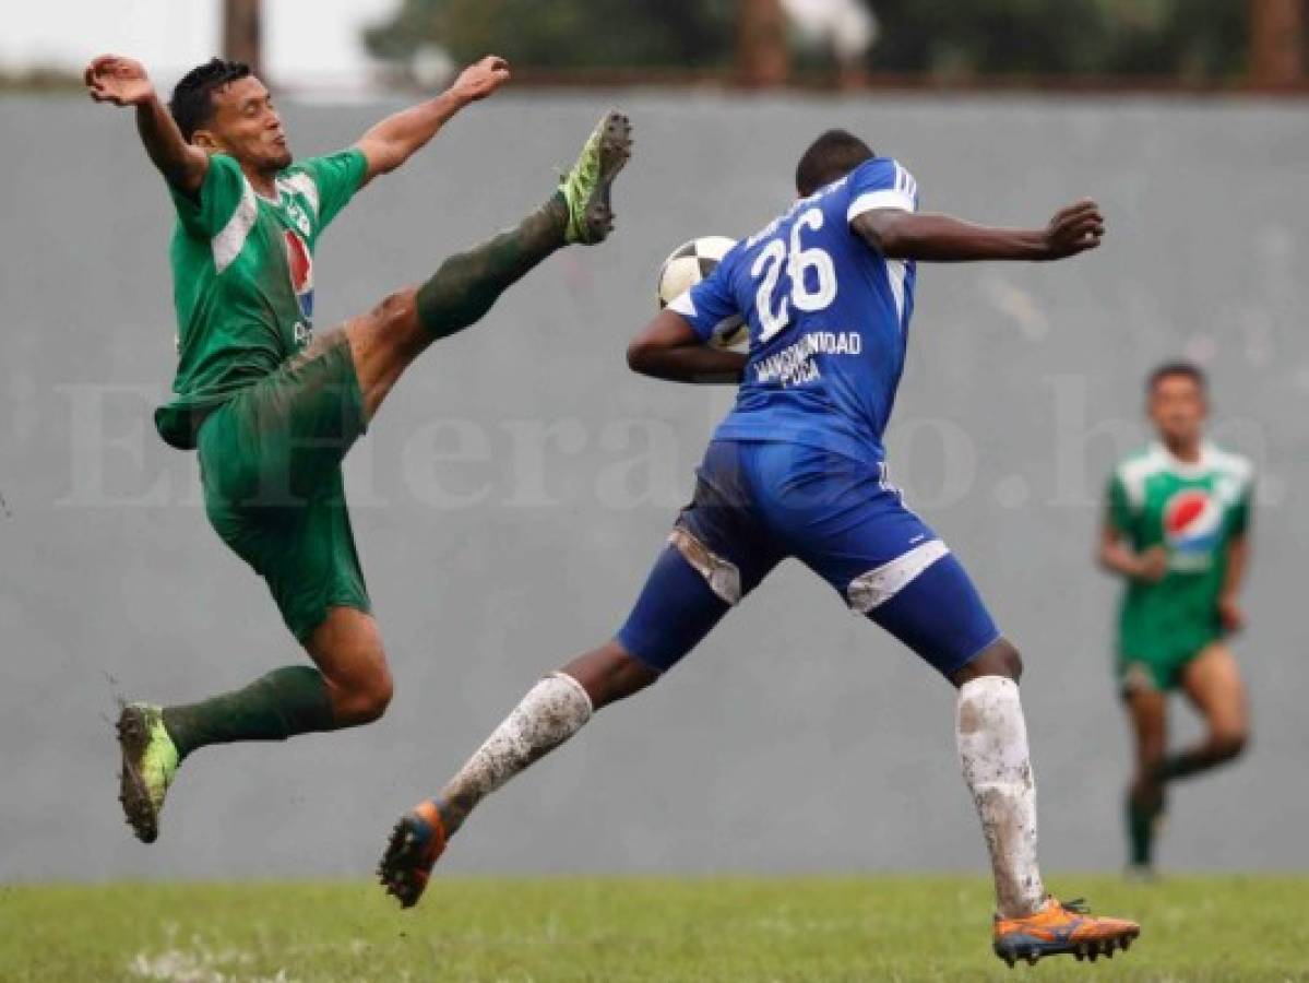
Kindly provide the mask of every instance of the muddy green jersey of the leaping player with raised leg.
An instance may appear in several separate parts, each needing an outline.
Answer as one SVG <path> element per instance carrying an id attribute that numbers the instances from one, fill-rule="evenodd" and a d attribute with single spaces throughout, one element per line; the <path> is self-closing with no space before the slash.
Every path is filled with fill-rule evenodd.
<path id="1" fill-rule="evenodd" d="M 209 412 L 309 343 L 314 246 L 365 170 L 357 149 L 297 162 L 278 174 L 274 200 L 215 154 L 194 199 L 170 188 L 178 366 L 175 398 L 154 412 L 166 442 L 194 448 Z"/>

